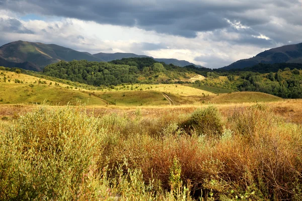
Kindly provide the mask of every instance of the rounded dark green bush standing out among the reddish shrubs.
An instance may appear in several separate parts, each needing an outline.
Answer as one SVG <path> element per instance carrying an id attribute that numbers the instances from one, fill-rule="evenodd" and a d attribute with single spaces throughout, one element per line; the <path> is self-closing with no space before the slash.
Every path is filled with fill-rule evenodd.
<path id="1" fill-rule="evenodd" d="M 220 136 L 223 131 L 222 116 L 213 106 L 195 110 L 184 126 L 187 129 L 196 130 L 200 135 L 212 137 Z"/>

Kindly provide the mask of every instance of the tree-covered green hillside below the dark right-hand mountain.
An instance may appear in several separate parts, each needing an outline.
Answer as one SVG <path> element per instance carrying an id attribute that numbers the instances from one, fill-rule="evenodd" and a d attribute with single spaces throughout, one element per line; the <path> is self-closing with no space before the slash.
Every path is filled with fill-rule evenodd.
<path id="1" fill-rule="evenodd" d="M 260 64 L 259 64 L 260 65 Z M 273 70 L 273 69 L 272 69 Z M 302 98 L 302 70 L 288 67 L 277 72 L 251 71 L 208 72 L 207 78 L 195 85 L 212 86 L 233 91 L 258 91 L 282 98 Z"/>

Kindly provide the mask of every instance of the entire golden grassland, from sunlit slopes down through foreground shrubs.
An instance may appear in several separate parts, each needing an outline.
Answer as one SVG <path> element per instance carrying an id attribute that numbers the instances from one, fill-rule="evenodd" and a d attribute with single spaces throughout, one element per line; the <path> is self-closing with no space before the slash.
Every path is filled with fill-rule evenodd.
<path id="1" fill-rule="evenodd" d="M 0 200 L 302 199 L 301 99 L 0 80 Z"/>

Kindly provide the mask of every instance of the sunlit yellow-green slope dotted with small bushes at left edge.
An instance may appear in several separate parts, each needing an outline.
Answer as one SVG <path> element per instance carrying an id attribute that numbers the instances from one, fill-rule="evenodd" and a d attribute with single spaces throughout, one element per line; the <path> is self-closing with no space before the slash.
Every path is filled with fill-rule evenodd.
<path id="1" fill-rule="evenodd" d="M 55 85 L 49 80 L 14 72 L 0 73 L 0 104 L 41 104 L 45 101 L 53 105 L 74 105 L 80 101 L 87 105 L 106 105 L 104 100 L 79 89 L 67 88 L 65 84 Z"/>

